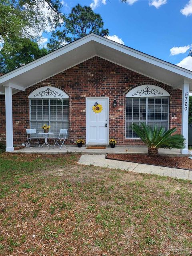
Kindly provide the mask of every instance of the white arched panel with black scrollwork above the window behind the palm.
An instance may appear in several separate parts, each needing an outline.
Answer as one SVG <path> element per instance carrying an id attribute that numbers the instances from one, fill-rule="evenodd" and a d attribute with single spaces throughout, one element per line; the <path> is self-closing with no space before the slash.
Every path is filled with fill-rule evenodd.
<path id="1" fill-rule="evenodd" d="M 144 84 L 137 86 L 130 90 L 126 97 L 169 97 L 170 94 L 163 88 L 152 85 Z"/>

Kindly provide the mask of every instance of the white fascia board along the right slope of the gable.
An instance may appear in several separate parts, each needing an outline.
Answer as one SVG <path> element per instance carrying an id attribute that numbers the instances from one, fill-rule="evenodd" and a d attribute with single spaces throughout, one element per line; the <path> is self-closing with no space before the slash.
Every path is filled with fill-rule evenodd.
<path id="1" fill-rule="evenodd" d="M 186 78 L 192 79 L 192 71 L 181 68 L 179 66 L 176 66 L 174 64 L 171 64 L 169 62 L 165 62 L 164 60 L 160 60 L 158 58 L 155 58 L 153 56 L 150 56 L 148 54 L 138 52 L 137 50 L 134 50 L 132 48 L 129 48 L 128 46 L 124 46 L 122 44 L 112 42 L 111 40 L 103 37 L 98 37 L 95 35 L 96 38 L 93 40 L 100 43 L 105 44 L 106 46 L 113 48 L 115 50 L 121 51 L 125 54 L 128 54 L 130 56 L 133 56 L 135 58 L 138 58 L 140 60 L 144 60 L 145 62 L 151 63 L 153 65 L 159 66 L 160 68 L 164 68 L 166 70 L 169 70 L 171 72 L 180 74 L 182 76 L 185 76 Z"/>

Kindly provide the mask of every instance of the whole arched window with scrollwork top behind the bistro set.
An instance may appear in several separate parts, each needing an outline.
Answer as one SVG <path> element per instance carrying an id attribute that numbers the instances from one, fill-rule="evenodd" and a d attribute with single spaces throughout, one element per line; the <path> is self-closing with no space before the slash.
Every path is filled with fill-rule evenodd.
<path id="1" fill-rule="evenodd" d="M 51 137 L 58 137 L 60 129 L 69 128 L 69 96 L 62 90 L 44 86 L 29 95 L 30 128 L 42 132 L 42 125 L 51 126 Z M 42 137 L 42 135 L 38 135 Z"/>

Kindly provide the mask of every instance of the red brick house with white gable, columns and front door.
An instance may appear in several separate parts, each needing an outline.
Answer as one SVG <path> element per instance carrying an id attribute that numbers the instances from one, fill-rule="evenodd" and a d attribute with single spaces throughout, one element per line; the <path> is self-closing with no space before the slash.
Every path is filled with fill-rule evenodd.
<path id="1" fill-rule="evenodd" d="M 66 144 L 141 146 L 130 125 L 147 122 L 176 126 L 186 154 L 190 90 L 190 70 L 89 34 L 0 76 L 0 140 L 10 152 L 50 124 L 52 137 L 68 128 Z"/>

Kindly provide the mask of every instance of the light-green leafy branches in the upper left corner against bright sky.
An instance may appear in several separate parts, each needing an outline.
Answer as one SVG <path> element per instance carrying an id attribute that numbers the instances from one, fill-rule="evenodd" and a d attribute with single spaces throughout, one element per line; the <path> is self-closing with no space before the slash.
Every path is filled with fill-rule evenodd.
<path id="1" fill-rule="evenodd" d="M 60 8 L 60 0 L 0 0 L 0 47 L 6 44 L 9 51 L 18 38 L 35 39 L 54 29 L 63 18 Z"/>

